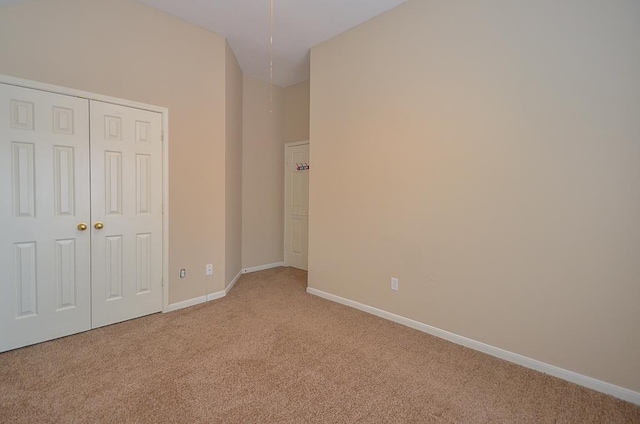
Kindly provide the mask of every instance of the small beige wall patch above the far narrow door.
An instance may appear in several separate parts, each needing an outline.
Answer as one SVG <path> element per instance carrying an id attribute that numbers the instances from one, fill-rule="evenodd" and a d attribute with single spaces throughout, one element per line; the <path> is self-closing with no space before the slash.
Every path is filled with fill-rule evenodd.
<path id="1" fill-rule="evenodd" d="M 282 138 L 285 143 L 309 139 L 309 80 L 285 88 Z"/>

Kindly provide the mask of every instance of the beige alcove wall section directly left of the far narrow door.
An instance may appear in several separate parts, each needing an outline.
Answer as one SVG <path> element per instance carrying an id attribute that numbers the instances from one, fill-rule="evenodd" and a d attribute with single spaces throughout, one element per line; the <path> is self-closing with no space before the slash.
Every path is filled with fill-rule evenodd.
<path id="1" fill-rule="evenodd" d="M 248 76 L 243 87 L 242 267 L 282 262 L 283 90 Z M 270 100 L 270 97 L 272 100 Z"/>

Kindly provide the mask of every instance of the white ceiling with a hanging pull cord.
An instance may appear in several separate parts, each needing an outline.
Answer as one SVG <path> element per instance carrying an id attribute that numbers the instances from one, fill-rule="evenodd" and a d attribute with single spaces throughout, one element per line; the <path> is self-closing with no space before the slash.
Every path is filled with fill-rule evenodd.
<path id="1" fill-rule="evenodd" d="M 0 0 L 0 6 L 28 0 Z M 106 1 L 106 0 L 105 0 Z M 140 0 L 223 35 L 249 76 L 269 81 L 270 0 Z M 273 82 L 309 79 L 309 49 L 406 0 L 273 0 Z"/>

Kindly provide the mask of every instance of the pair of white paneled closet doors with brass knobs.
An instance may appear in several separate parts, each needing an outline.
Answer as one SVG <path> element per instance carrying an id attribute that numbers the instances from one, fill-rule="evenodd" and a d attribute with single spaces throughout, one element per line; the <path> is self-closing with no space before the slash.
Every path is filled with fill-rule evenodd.
<path id="1" fill-rule="evenodd" d="M 0 351 L 162 309 L 162 115 L 0 83 Z"/>

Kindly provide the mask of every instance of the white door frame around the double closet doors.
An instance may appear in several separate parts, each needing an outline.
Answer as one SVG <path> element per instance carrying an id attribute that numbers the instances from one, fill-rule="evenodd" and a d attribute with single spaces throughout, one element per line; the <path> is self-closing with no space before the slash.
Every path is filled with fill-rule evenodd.
<path id="1" fill-rule="evenodd" d="M 0 83 L 148 110 L 162 115 L 162 312 L 169 312 L 169 109 L 9 75 L 0 74 Z"/>

